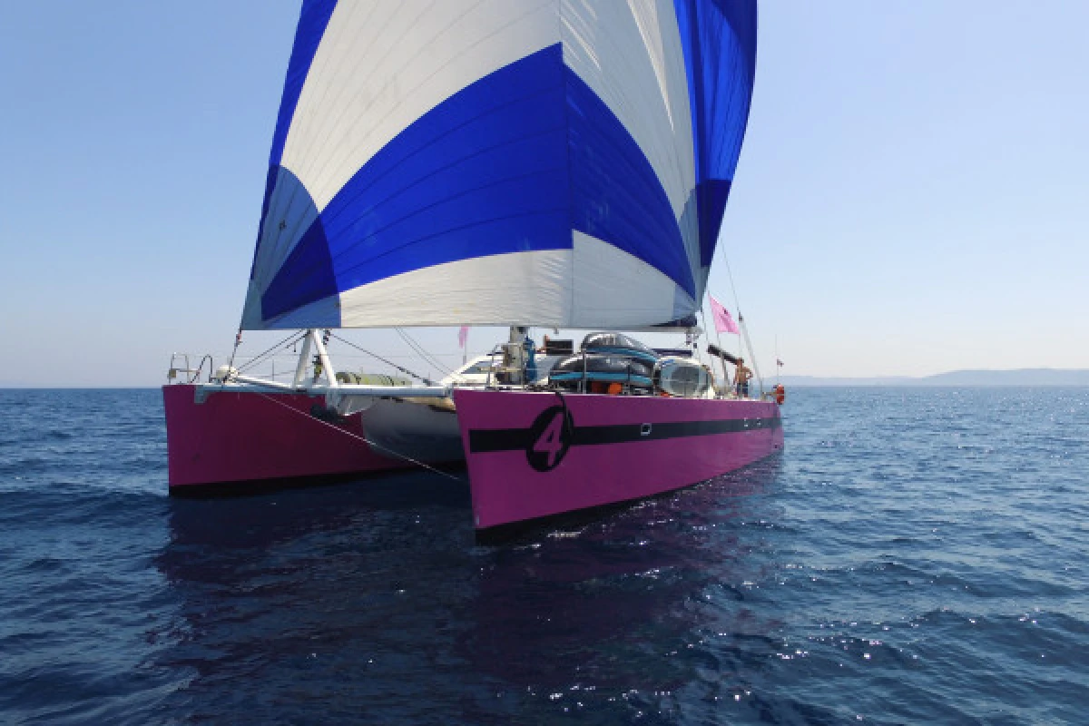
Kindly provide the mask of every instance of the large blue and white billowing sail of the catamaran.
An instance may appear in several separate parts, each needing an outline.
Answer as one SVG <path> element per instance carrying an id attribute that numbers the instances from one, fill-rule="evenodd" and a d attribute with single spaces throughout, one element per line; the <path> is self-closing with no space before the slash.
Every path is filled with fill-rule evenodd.
<path id="1" fill-rule="evenodd" d="M 306 0 L 243 327 L 698 309 L 755 0 Z"/>

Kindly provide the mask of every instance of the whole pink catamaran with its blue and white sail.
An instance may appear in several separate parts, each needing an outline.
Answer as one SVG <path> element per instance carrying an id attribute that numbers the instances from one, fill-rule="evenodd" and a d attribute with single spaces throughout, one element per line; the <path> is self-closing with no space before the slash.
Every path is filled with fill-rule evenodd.
<path id="1" fill-rule="evenodd" d="M 627 334 L 698 335 L 756 27 L 755 0 L 305 0 L 240 325 L 298 330 L 297 368 L 172 365 L 171 491 L 463 460 L 488 529 L 781 448 L 774 401 Z M 423 325 L 510 335 L 439 383 L 333 368 L 331 331 Z M 529 327 L 590 334 L 538 368 Z"/>

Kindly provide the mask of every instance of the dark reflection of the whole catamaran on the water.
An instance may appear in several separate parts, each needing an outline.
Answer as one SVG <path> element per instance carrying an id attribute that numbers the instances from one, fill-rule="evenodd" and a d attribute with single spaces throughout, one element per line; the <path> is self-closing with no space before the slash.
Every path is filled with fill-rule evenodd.
<path id="1" fill-rule="evenodd" d="M 180 595 L 183 714 L 481 723 L 660 715 L 775 649 L 745 582 L 779 459 L 670 496 L 474 543 L 468 490 L 427 475 L 174 501 L 158 566 Z M 196 704 L 200 704 L 196 707 Z M 331 706 L 329 704 L 332 704 Z M 192 704 L 192 705 L 191 705 Z M 196 709 L 195 711 L 192 709 Z"/>

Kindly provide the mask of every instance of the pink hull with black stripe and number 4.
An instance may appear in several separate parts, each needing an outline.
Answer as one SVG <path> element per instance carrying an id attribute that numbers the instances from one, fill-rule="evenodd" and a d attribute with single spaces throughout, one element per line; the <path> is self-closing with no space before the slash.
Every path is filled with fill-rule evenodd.
<path id="1" fill-rule="evenodd" d="M 478 529 L 668 492 L 783 447 L 771 402 L 473 390 L 454 402 Z"/>

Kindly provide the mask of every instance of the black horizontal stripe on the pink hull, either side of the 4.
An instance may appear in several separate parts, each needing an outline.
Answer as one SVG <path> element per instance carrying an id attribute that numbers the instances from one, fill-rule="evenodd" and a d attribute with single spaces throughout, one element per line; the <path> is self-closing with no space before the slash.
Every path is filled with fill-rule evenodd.
<path id="1" fill-rule="evenodd" d="M 596 444 L 623 444 L 633 441 L 660 441 L 687 436 L 709 436 L 719 433 L 742 433 L 762 429 L 778 429 L 783 424 L 779 416 L 769 418 L 732 418 L 718 421 L 677 421 L 672 423 L 620 423 L 613 426 L 576 426 L 571 432 L 572 446 Z M 646 430 L 646 427 L 650 427 Z M 469 452 L 523 451 L 534 441 L 533 429 L 470 429 Z"/>

